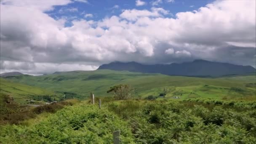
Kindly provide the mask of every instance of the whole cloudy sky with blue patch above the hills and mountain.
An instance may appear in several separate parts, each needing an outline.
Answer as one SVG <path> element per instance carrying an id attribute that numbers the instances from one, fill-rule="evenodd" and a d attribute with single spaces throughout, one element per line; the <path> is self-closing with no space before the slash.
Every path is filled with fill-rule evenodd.
<path id="1" fill-rule="evenodd" d="M 0 0 L 0 73 L 195 59 L 256 67 L 256 0 Z"/>

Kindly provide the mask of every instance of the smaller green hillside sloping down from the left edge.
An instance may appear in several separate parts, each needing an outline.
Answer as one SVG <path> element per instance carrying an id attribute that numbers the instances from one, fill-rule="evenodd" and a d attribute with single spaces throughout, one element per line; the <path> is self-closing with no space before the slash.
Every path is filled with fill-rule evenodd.
<path id="1" fill-rule="evenodd" d="M 53 91 L 47 91 L 42 88 L 24 85 L 21 83 L 14 83 L 9 80 L 0 78 L 0 96 L 3 94 L 13 97 L 17 103 L 27 103 L 26 100 L 33 99 L 40 96 L 56 96 Z"/>

